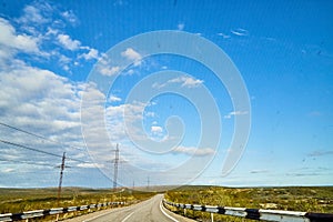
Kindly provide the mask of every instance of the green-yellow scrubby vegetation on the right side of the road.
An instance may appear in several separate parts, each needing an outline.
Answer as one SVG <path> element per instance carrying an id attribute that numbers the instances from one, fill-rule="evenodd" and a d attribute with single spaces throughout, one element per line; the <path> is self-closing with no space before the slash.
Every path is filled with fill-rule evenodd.
<path id="1" fill-rule="evenodd" d="M 164 196 L 176 203 L 333 213 L 333 186 L 181 186 L 168 191 Z M 183 209 L 170 208 L 170 210 L 184 214 Z M 186 210 L 185 213 L 188 218 L 210 221 L 210 214 L 205 212 Z M 253 220 L 214 214 L 214 221 Z"/>

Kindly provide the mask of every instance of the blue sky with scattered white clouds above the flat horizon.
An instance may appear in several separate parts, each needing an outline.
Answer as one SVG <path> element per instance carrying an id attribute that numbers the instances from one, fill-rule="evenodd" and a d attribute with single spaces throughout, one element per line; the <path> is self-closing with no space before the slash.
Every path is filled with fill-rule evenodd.
<path id="1" fill-rule="evenodd" d="M 0 186 L 332 185 L 332 11 L 0 0 Z"/>

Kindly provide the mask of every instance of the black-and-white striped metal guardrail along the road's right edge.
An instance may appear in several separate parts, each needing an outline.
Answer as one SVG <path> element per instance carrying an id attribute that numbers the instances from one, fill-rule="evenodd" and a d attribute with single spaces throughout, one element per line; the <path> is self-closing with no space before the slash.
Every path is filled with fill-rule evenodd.
<path id="1" fill-rule="evenodd" d="M 262 209 L 246 209 L 246 208 L 231 208 L 231 206 L 216 206 L 216 205 L 199 205 L 199 204 L 183 204 L 173 203 L 163 200 L 163 204 L 172 205 L 181 209 L 189 209 L 193 211 L 241 216 L 245 219 L 260 220 L 260 221 L 275 221 L 275 222 L 333 222 L 333 214 L 331 213 L 311 213 L 299 211 L 276 211 L 276 210 L 262 210 Z M 212 216 L 213 221 L 213 216 Z"/>

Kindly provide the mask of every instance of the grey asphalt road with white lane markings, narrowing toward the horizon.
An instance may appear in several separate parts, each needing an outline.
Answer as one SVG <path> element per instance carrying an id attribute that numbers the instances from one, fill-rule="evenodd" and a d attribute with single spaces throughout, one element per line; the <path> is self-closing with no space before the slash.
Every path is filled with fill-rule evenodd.
<path id="1" fill-rule="evenodd" d="M 163 194 L 158 194 L 147 201 L 118 209 L 91 213 L 67 220 L 67 222 L 191 222 L 193 220 L 171 213 L 163 208 Z"/>

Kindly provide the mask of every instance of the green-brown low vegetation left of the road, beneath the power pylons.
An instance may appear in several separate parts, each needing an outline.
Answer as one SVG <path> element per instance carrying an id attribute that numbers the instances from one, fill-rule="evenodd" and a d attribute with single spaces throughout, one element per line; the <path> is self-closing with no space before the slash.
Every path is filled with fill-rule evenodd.
<path id="1" fill-rule="evenodd" d="M 137 203 L 147 200 L 155 193 L 131 191 L 128 189 L 82 189 L 63 188 L 58 203 L 58 189 L 0 189 L 0 213 L 20 213 L 32 210 L 44 210 L 51 208 L 78 206 L 104 202 L 125 202 L 125 204 Z M 113 206 L 103 206 L 99 210 Z M 85 211 L 71 212 L 60 215 L 60 219 L 73 218 L 88 212 L 97 211 L 91 209 Z M 33 221 L 54 221 L 56 215 L 36 219 Z"/>

